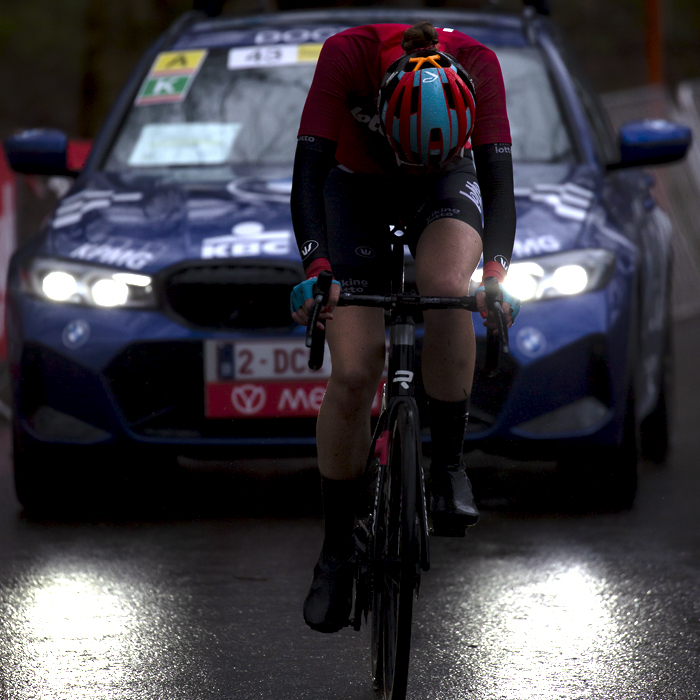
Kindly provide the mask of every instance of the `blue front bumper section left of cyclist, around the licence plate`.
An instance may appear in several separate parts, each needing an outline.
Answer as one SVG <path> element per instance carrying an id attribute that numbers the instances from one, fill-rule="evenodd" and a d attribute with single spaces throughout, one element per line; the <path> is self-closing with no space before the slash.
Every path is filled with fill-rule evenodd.
<path id="1" fill-rule="evenodd" d="M 196 448 L 230 458 L 315 452 L 314 418 L 205 418 L 205 340 L 250 333 L 200 332 L 158 312 L 27 297 L 10 304 L 8 325 L 15 415 L 35 441 L 170 446 L 185 455 Z"/>

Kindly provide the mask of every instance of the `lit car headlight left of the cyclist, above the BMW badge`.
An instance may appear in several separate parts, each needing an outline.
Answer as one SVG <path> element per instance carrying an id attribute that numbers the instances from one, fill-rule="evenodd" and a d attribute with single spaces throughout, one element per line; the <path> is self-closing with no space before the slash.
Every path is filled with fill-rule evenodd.
<path id="1" fill-rule="evenodd" d="M 34 258 L 22 279 L 25 292 L 66 304 L 152 308 L 156 302 L 148 275 L 66 260 Z"/>

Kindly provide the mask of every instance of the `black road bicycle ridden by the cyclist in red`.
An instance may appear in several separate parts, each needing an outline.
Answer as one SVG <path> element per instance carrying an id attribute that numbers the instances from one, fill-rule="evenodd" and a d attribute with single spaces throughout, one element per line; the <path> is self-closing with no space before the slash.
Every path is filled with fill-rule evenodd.
<path id="1" fill-rule="evenodd" d="M 369 306 L 387 312 L 389 363 L 382 407 L 374 429 L 365 478 L 367 512 L 355 527 L 353 612 L 348 625 L 370 624 L 371 673 L 385 700 L 406 696 L 411 648 L 413 601 L 421 572 L 430 568 L 429 521 L 421 432 L 415 398 L 415 319 L 428 309 L 476 311 L 476 297 L 427 297 L 404 291 L 404 246 L 395 237 L 391 253 L 391 293 L 387 296 L 341 293 L 338 306 Z M 314 287 L 307 326 L 309 367 L 323 364 L 325 330 L 321 309 L 328 303 L 332 275 L 322 272 Z M 487 307 L 495 329 L 487 334 L 485 371 L 496 376 L 508 353 L 502 295 L 495 278 L 485 282 Z M 497 332 L 496 332 L 497 331 Z M 441 534 L 464 535 L 461 532 Z"/>

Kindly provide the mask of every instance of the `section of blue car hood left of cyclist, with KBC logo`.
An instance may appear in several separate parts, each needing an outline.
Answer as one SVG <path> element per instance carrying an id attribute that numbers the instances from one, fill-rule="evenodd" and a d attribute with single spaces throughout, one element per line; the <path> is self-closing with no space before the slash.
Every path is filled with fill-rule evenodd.
<path id="1" fill-rule="evenodd" d="M 274 258 L 301 264 L 291 171 L 228 183 L 92 175 L 58 205 L 42 254 L 153 274 L 184 260 Z"/>

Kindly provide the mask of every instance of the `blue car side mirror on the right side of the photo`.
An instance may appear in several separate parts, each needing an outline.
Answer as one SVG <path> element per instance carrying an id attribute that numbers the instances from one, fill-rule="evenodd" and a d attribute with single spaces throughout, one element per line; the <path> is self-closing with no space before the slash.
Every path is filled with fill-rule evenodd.
<path id="1" fill-rule="evenodd" d="M 682 160 L 692 136 L 689 127 L 665 119 L 644 119 L 625 124 L 620 129 L 620 161 L 608 165 L 608 170 Z"/>

